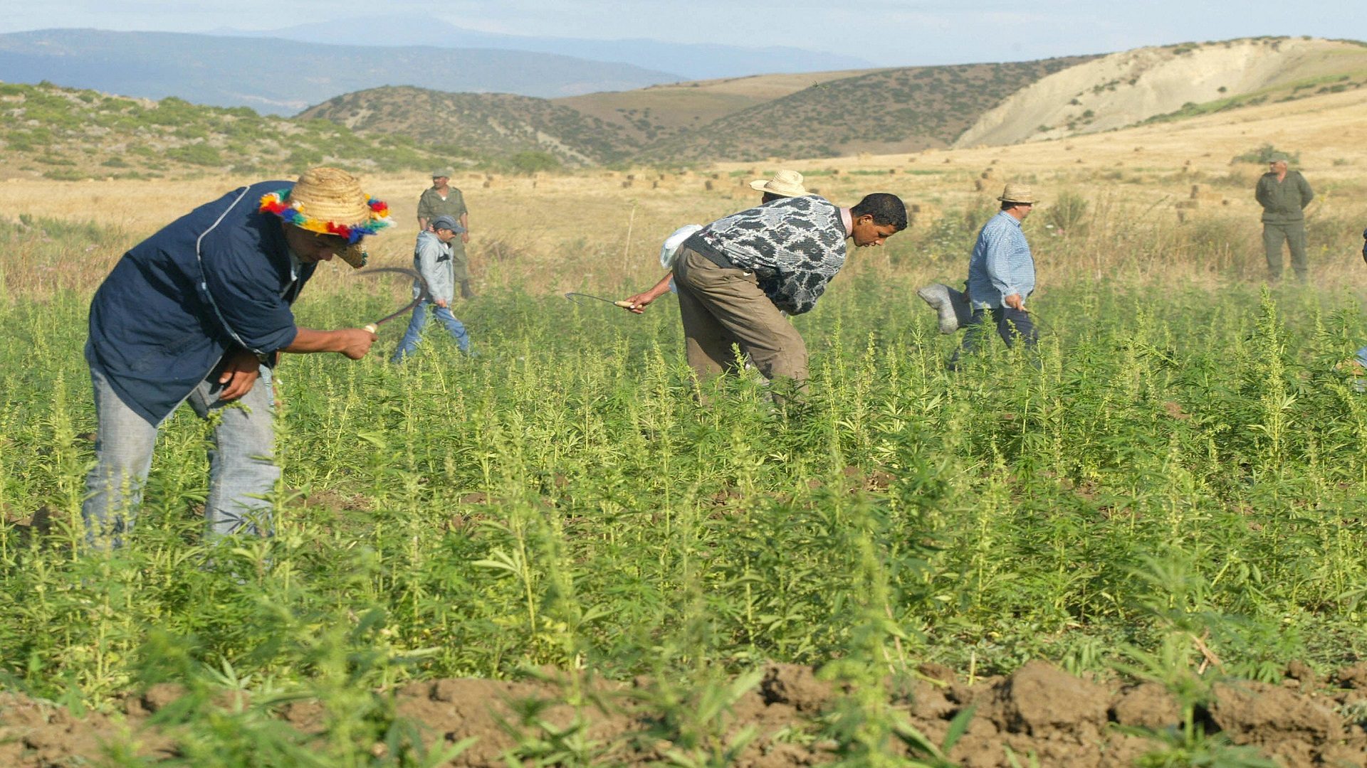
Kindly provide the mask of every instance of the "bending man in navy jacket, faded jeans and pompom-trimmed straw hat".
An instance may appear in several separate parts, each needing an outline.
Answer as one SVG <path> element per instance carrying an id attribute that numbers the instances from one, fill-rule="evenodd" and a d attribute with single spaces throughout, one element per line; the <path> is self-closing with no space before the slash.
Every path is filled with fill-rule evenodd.
<path id="1" fill-rule="evenodd" d="M 290 305 L 319 261 L 361 266 L 361 239 L 388 209 L 335 168 L 262 182 L 201 205 L 138 243 L 90 302 L 86 361 L 94 385 L 97 463 L 82 507 L 94 545 L 122 544 L 152 466 L 157 428 L 182 402 L 217 414 L 209 452 L 208 536 L 271 532 L 280 477 L 272 368 L 279 353 L 361 359 L 376 335 L 313 331 Z M 245 407 L 226 407 L 241 403 Z"/>

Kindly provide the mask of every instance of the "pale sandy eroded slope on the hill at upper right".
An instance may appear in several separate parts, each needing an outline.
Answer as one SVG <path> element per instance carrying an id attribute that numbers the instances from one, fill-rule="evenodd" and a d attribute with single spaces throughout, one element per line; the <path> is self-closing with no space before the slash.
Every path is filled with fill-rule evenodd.
<path id="1" fill-rule="evenodd" d="M 1043 78 L 986 112 L 954 146 L 1003 145 L 1132 126 L 1180 109 L 1336 72 L 1367 70 L 1367 48 L 1255 38 L 1139 48 Z"/>

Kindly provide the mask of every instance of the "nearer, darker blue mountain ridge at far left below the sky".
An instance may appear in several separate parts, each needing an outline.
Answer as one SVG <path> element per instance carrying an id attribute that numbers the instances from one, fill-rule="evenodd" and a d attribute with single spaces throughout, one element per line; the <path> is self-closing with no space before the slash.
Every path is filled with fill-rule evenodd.
<path id="1" fill-rule="evenodd" d="M 0 34 L 0 81 L 49 81 L 142 98 L 175 96 L 275 115 L 383 85 L 555 97 L 679 79 L 664 70 L 528 51 L 375 48 L 163 31 Z"/>

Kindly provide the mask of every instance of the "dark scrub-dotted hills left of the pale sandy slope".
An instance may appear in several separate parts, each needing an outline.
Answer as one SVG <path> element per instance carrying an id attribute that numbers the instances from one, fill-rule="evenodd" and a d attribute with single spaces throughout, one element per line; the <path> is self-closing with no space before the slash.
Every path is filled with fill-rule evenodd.
<path id="1" fill-rule="evenodd" d="M 1013 90 L 1087 56 L 674 83 L 555 101 L 377 87 L 301 113 L 470 152 L 692 164 L 947 146 Z"/>

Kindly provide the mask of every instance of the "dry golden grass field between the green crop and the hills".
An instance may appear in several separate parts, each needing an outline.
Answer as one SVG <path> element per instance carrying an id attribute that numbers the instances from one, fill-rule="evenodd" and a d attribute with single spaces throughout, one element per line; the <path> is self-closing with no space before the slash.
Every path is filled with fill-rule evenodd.
<path id="1" fill-rule="evenodd" d="M 1356 90 L 1013 146 L 774 159 L 675 174 L 649 168 L 468 174 L 452 184 L 465 191 L 472 208 L 470 250 L 477 279 L 487 287 L 519 286 L 532 292 L 649 284 L 659 272 L 655 251 L 664 235 L 682 224 L 705 223 L 746 206 L 756 195 L 744 183 L 778 168 L 807 174 L 809 189 L 843 205 L 869 191 L 899 194 L 913 206 L 915 224 L 910 236 L 893 241 L 894 253 L 924 245 L 924 236 L 943 216 L 992 205 L 991 198 L 1006 180 L 1029 182 L 1043 200 L 1027 227 L 1042 251 L 1044 290 L 1073 272 L 1088 277 L 1117 271 L 1159 280 L 1256 280 L 1260 230 L 1252 189 L 1264 167 L 1232 159 L 1263 145 L 1297 153 L 1297 167 L 1316 190 L 1311 232 L 1331 235 L 1311 243 L 1316 283 L 1363 284 L 1367 271 L 1355 250 L 1356 232 L 1367 225 L 1367 93 Z M 175 182 L 8 179 L 0 183 L 0 210 L 10 219 L 56 217 L 113 225 L 126 232 L 124 241 L 131 245 L 189 208 L 253 180 L 212 174 Z M 417 197 L 428 182 L 424 174 L 364 180 L 372 194 L 391 204 L 399 223 L 375 239 L 375 262 L 403 264 L 417 231 Z M 1085 235 L 1065 234 L 1066 253 L 1061 261 L 1050 261 L 1048 238 L 1057 238 L 1057 232 L 1046 221 L 1061 194 L 1088 201 L 1088 217 L 1098 225 Z M 1117 227 L 1154 247 L 1169 239 L 1180 243 L 1184 232 L 1210 230 L 1208 236 L 1225 238 L 1228 260 L 1187 262 L 1177 247 L 1135 261 L 1135 254 L 1118 251 L 1107 239 Z M 1079 236 L 1089 239 L 1080 243 Z M 0 268 L 11 292 L 31 282 L 89 290 L 120 256 L 120 247 L 109 242 L 62 265 L 19 258 Z M 953 262 L 928 264 L 915 253 L 894 260 L 886 253 L 863 251 L 849 265 L 853 272 L 871 268 L 925 277 L 956 277 L 958 271 Z M 340 268 L 332 272 L 344 277 Z"/>

